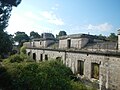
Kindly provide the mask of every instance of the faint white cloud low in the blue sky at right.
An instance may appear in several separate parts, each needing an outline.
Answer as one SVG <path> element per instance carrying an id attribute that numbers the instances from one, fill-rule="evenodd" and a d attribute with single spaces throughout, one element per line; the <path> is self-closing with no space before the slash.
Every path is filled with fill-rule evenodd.
<path id="1" fill-rule="evenodd" d="M 103 24 L 99 24 L 99 25 L 84 25 L 81 27 L 82 29 L 85 30 L 99 30 L 99 31 L 109 31 L 113 28 L 113 26 L 109 23 L 103 23 Z"/>

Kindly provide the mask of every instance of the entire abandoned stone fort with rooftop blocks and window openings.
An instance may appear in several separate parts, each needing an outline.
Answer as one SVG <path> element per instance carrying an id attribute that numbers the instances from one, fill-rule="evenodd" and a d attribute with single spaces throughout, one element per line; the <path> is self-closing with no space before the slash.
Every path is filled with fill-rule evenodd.
<path id="1" fill-rule="evenodd" d="M 100 90 L 120 90 L 120 31 L 118 42 L 105 41 L 95 35 L 72 34 L 25 42 L 26 51 L 36 62 L 62 60 L 80 78 L 98 83 Z"/>

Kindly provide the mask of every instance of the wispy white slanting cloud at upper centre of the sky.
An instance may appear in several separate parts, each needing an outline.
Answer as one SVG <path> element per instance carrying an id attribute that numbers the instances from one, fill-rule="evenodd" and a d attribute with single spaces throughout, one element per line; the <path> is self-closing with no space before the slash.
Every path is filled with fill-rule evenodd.
<path id="1" fill-rule="evenodd" d="M 61 18 L 58 18 L 56 14 L 49 11 L 41 12 L 41 16 L 47 20 L 48 23 L 52 23 L 55 25 L 64 25 L 64 22 Z"/>

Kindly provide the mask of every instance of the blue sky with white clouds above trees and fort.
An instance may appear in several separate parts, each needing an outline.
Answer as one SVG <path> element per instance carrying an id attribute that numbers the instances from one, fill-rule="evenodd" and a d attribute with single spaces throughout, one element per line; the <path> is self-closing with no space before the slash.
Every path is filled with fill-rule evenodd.
<path id="1" fill-rule="evenodd" d="M 22 0 L 6 31 L 109 35 L 120 28 L 120 0 Z"/>

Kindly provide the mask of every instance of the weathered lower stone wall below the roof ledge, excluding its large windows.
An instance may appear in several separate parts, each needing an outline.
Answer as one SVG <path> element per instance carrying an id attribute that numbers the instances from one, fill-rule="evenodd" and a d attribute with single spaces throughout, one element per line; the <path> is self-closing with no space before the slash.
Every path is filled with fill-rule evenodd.
<path id="1" fill-rule="evenodd" d="M 43 54 L 48 56 L 49 60 L 61 57 L 63 63 L 70 67 L 73 73 L 78 72 L 78 60 L 84 62 L 84 78 L 91 81 L 97 81 L 99 83 L 100 90 L 120 90 L 120 56 L 119 55 L 108 55 L 99 53 L 82 53 L 65 50 L 50 50 L 50 49 L 27 49 L 27 53 L 36 53 L 36 61 L 40 61 L 40 55 Z M 43 60 L 45 61 L 45 60 Z M 99 79 L 91 78 L 91 65 L 97 63 L 99 65 Z"/>

